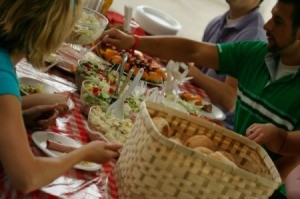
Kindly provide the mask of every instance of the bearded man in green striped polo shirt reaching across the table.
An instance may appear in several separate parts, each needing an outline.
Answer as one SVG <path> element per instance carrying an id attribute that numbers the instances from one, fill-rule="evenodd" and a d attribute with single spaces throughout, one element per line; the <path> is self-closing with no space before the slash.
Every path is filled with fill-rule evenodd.
<path id="1" fill-rule="evenodd" d="M 106 42 L 119 49 L 136 48 L 166 60 L 194 62 L 238 79 L 234 130 L 239 134 L 245 135 L 253 123 L 273 123 L 286 131 L 298 130 L 300 1 L 278 0 L 264 29 L 268 43 L 216 45 L 179 37 L 137 37 L 116 29 L 104 32 L 101 38 L 108 34 Z M 274 153 L 270 156 L 273 160 L 278 158 Z"/>

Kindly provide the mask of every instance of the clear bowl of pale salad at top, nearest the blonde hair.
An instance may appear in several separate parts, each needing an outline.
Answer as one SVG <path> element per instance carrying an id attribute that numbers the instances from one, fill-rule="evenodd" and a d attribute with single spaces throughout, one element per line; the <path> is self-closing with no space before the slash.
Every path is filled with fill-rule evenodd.
<path id="1" fill-rule="evenodd" d="M 79 45 L 92 43 L 102 34 L 107 24 L 108 19 L 104 15 L 84 8 L 66 42 Z"/>

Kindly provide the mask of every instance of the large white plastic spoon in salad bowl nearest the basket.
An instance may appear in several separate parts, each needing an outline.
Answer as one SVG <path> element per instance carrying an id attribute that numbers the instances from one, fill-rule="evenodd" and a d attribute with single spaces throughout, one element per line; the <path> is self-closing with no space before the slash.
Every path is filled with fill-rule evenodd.
<path id="1" fill-rule="evenodd" d="M 124 101 L 131 94 L 133 89 L 137 86 L 137 84 L 142 78 L 143 73 L 144 73 L 144 69 L 141 68 L 136 74 L 136 76 L 134 77 L 132 83 L 130 84 L 125 94 L 122 95 L 117 101 L 115 101 L 113 104 L 109 106 L 109 108 L 106 111 L 106 116 L 112 113 L 116 118 L 124 119 Z"/>

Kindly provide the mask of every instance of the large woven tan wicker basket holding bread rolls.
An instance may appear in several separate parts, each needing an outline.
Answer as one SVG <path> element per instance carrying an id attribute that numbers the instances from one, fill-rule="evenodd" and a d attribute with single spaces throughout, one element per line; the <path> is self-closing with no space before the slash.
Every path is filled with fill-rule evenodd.
<path id="1" fill-rule="evenodd" d="M 170 141 L 151 117 L 163 117 L 172 136 L 185 141 L 205 134 L 225 150 L 238 168 Z M 124 144 L 115 175 L 120 198 L 268 198 L 281 184 L 265 150 L 247 138 L 195 116 L 142 105 L 133 132 Z"/>

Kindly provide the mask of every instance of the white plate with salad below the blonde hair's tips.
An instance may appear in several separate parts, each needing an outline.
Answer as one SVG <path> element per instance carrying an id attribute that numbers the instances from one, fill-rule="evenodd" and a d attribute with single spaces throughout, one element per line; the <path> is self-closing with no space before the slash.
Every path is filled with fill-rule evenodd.
<path id="1" fill-rule="evenodd" d="M 26 91 L 24 91 L 21 88 L 21 85 L 30 85 L 32 87 L 37 87 L 37 86 L 41 86 L 41 93 L 57 93 L 57 92 L 61 92 L 59 89 L 50 86 L 49 84 L 39 81 L 37 79 L 33 79 L 30 77 L 21 77 L 19 78 L 19 84 L 20 84 L 20 91 L 25 94 L 25 95 L 29 95 L 29 93 L 27 93 Z"/>

